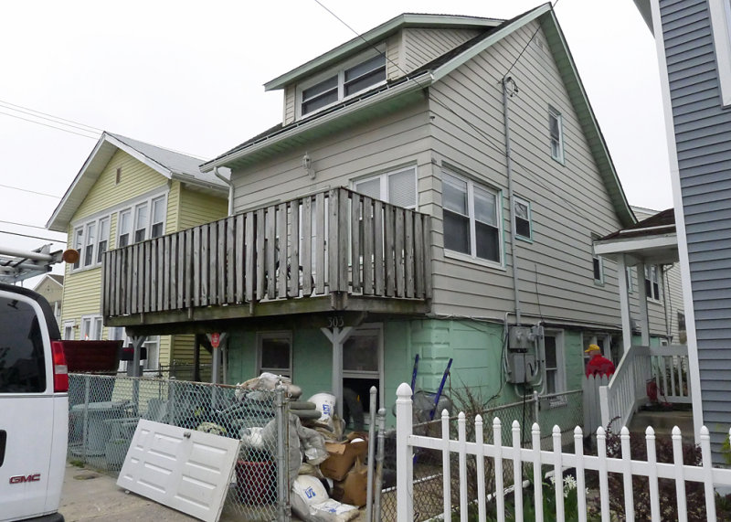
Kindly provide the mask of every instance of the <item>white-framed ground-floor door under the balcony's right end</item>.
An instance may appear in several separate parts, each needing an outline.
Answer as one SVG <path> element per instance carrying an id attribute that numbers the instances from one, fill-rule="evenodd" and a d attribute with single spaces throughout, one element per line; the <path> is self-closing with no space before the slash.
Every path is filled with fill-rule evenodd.
<path id="1" fill-rule="evenodd" d="M 344 419 L 361 431 L 370 413 L 370 389 L 376 387 L 376 409 L 383 406 L 383 329 L 361 326 L 343 345 Z"/>

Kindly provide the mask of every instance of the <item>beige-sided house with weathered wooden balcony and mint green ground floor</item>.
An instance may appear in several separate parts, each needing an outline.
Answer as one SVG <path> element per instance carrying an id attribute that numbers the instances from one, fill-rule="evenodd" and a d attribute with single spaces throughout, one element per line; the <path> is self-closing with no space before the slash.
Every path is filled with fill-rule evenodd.
<path id="1" fill-rule="evenodd" d="M 636 219 L 549 4 L 397 16 L 265 88 L 283 121 L 201 167 L 231 169 L 236 215 L 111 251 L 108 324 L 226 332 L 229 382 L 375 385 L 387 410 L 416 355 L 418 388 L 453 358 L 485 400 L 580 389 L 590 343 L 621 356 L 592 244 Z"/>

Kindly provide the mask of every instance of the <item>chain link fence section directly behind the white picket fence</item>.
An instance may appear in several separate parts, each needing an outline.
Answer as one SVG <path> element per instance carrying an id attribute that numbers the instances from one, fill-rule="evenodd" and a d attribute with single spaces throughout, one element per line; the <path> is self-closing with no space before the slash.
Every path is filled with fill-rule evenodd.
<path id="1" fill-rule="evenodd" d="M 469 403 L 469 401 L 467 401 Z M 457 413 L 457 410 L 452 410 Z M 531 429 L 535 422 L 541 429 L 541 447 L 553 447 L 552 430 L 557 425 L 562 433 L 562 444 L 573 444 L 574 428 L 584 422 L 581 390 L 568 391 L 545 396 L 526 396 L 520 402 L 503 404 L 493 408 L 464 408 L 467 422 L 466 440 L 475 440 L 474 418 L 482 416 L 483 442 L 493 442 L 493 419 L 500 419 L 502 425 L 503 444 L 513 443 L 513 421 L 521 426 L 520 439 L 523 447 L 532 447 Z M 415 420 L 416 422 L 416 420 Z M 434 421 L 415 423 L 413 432 L 417 435 L 441 437 L 440 415 L 435 415 Z M 458 416 L 450 417 L 450 439 L 458 437 Z M 460 466 L 458 455 L 450 455 L 450 483 L 452 492 L 452 506 L 459 505 Z M 381 519 L 385 522 L 396 521 L 396 431 L 386 433 L 386 452 L 384 462 L 384 485 L 381 491 Z M 468 498 L 477 498 L 477 463 L 474 457 L 467 459 Z M 487 492 L 494 491 L 493 460 L 485 459 L 484 476 Z M 514 482 L 512 461 L 503 462 L 504 485 Z M 524 474 L 528 478 L 527 474 Z M 419 449 L 414 455 L 414 517 L 415 520 L 428 520 L 437 517 L 443 510 L 443 474 L 442 453 L 439 450 Z"/>

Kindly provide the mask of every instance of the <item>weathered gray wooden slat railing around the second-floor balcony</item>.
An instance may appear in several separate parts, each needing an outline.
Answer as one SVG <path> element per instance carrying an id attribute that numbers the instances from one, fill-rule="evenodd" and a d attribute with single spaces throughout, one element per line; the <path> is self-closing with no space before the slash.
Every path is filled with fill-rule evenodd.
<path id="1" fill-rule="evenodd" d="M 431 297 L 429 216 L 345 188 L 105 252 L 103 313 L 328 293 Z"/>

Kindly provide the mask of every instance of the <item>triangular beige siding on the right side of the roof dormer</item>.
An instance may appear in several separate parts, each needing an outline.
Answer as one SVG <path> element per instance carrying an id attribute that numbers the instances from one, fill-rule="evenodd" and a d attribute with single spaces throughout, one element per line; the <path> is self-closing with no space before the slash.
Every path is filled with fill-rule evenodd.
<path id="1" fill-rule="evenodd" d="M 481 32 L 478 29 L 405 28 L 402 36 L 403 59 L 399 65 L 407 73 L 418 69 Z"/>

